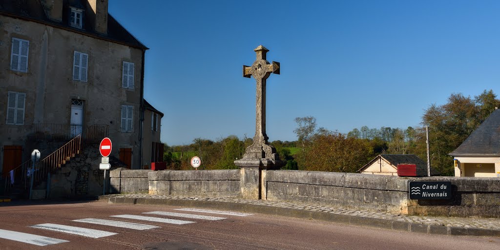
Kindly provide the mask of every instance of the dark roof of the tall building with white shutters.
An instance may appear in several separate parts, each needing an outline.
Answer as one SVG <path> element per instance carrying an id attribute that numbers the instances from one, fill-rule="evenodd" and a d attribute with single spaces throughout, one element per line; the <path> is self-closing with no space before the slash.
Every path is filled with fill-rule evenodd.
<path id="1" fill-rule="evenodd" d="M 0 14 L 9 15 L 17 18 L 42 22 L 54 27 L 60 27 L 67 30 L 72 30 L 78 33 L 88 34 L 98 38 L 123 43 L 126 45 L 148 49 L 144 44 L 137 40 L 130 32 L 128 32 L 116 19 L 109 13 L 107 14 L 107 34 L 96 32 L 90 25 L 90 21 L 83 21 L 83 27 L 76 28 L 69 25 L 69 14 L 67 9 L 69 6 L 85 8 L 81 0 L 64 0 L 62 9 L 62 20 L 60 22 L 50 20 L 43 10 L 43 5 L 40 1 L 26 0 L 0 0 Z"/>

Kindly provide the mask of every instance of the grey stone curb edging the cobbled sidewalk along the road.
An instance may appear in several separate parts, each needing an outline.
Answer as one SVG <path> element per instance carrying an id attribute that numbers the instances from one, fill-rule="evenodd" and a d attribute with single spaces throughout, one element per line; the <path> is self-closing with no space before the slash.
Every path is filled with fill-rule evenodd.
<path id="1" fill-rule="evenodd" d="M 108 203 L 114 204 L 142 204 L 142 205 L 171 205 L 171 206 L 196 206 L 204 208 L 228 209 L 243 212 L 264 213 L 295 218 L 308 218 L 343 224 L 362 225 L 375 228 L 385 228 L 398 231 L 422 232 L 441 235 L 468 235 L 468 236 L 496 236 L 500 237 L 500 230 L 455 227 L 445 225 L 431 225 L 396 221 L 390 219 L 370 218 L 355 215 L 335 214 L 330 212 L 318 212 L 293 208 L 274 207 L 266 205 L 255 205 L 247 203 L 233 203 L 223 201 L 207 200 L 184 200 L 184 199 L 155 199 L 155 198 L 130 198 L 115 197 L 114 195 L 101 195 L 99 200 L 107 199 Z"/>

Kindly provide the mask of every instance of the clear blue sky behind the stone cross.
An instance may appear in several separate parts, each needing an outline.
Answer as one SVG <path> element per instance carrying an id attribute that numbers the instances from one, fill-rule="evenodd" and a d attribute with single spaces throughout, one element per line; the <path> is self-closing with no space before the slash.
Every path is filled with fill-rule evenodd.
<path id="1" fill-rule="evenodd" d="M 150 48 L 144 97 L 169 145 L 253 137 L 255 80 L 241 67 L 260 44 L 281 63 L 267 79 L 270 141 L 295 140 L 299 116 L 405 128 L 451 93 L 500 94 L 498 0 L 109 0 L 109 12 Z"/>

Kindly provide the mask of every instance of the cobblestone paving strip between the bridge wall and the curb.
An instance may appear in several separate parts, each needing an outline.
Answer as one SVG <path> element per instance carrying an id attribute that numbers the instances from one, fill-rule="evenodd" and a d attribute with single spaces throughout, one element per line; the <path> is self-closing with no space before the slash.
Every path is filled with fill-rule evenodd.
<path id="1" fill-rule="evenodd" d="M 383 211 L 350 209 L 337 206 L 301 204 L 301 203 L 293 203 L 287 201 L 272 201 L 272 200 L 262 200 L 262 199 L 253 200 L 253 199 L 243 199 L 243 198 L 235 198 L 229 196 L 221 196 L 221 197 L 174 196 L 174 195 L 149 195 L 144 193 L 117 194 L 112 196 L 127 197 L 127 198 L 205 200 L 205 201 L 217 201 L 217 202 L 246 203 L 254 205 L 318 211 L 318 212 L 330 212 L 335 214 L 345 214 L 345 215 L 360 216 L 367 218 L 405 221 L 410 223 L 500 230 L 500 218 L 414 216 L 414 215 L 406 215 L 406 214 L 383 212 Z"/>

